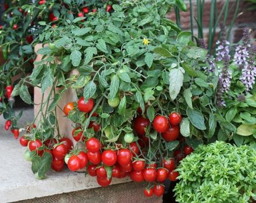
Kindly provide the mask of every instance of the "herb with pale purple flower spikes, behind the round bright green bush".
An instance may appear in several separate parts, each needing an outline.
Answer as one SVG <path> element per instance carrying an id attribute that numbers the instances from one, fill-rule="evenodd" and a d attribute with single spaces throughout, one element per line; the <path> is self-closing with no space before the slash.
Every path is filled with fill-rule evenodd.
<path id="1" fill-rule="evenodd" d="M 250 30 L 244 29 L 243 39 L 231 55 L 222 29 L 222 38 L 216 49 L 216 64 L 220 72 L 216 103 L 237 130 L 231 137 L 220 131 L 218 137 L 219 140 L 233 139 L 238 146 L 250 144 L 256 148 L 256 48 L 249 36 Z"/>

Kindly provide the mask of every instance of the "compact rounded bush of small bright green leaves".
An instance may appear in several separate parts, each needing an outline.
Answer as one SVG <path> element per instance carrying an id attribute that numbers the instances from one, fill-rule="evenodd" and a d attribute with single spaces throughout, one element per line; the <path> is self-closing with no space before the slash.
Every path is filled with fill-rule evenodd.
<path id="1" fill-rule="evenodd" d="M 198 147 L 178 167 L 177 202 L 221 203 L 256 200 L 256 151 L 216 142 Z"/>

